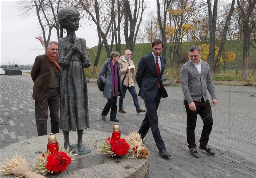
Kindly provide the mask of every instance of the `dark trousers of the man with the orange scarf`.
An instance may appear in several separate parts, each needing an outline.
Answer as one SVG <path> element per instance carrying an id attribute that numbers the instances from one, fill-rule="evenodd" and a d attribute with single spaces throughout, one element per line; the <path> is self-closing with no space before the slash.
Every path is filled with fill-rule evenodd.
<path id="1" fill-rule="evenodd" d="M 60 89 L 47 89 L 41 101 L 35 101 L 36 128 L 38 136 L 47 135 L 48 106 L 51 131 L 59 133 Z"/>

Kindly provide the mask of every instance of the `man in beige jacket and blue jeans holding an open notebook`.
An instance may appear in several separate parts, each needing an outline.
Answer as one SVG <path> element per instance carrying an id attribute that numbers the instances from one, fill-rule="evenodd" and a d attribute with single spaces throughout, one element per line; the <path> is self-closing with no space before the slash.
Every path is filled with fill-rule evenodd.
<path id="1" fill-rule="evenodd" d="M 124 79 L 124 76 L 126 76 L 123 81 L 123 96 L 119 98 L 118 112 L 121 112 L 124 114 L 126 113 L 123 110 L 123 101 L 124 101 L 124 97 L 125 97 L 125 93 L 126 93 L 127 89 L 132 95 L 133 103 L 136 108 L 137 114 L 139 114 L 140 112 L 146 112 L 146 110 L 140 109 L 140 106 L 139 106 L 138 96 L 137 96 L 134 82 L 133 82 L 133 73 L 135 72 L 135 70 L 134 70 L 134 68 L 132 68 L 132 69 L 128 68 L 129 66 L 133 65 L 133 61 L 131 60 L 131 51 L 125 50 L 124 56 L 121 56 L 118 62 L 121 63 L 120 69 L 121 69 L 122 81 Z M 127 72 L 127 75 L 125 75 L 126 72 Z"/>

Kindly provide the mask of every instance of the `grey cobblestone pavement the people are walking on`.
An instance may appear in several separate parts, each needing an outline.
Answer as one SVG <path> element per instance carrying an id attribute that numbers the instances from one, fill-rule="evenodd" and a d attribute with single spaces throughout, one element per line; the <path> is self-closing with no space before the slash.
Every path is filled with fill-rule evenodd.
<path id="1" fill-rule="evenodd" d="M 29 75 L 1 75 L 1 148 L 36 137 L 35 107 L 32 98 L 33 82 Z M 196 133 L 200 158 L 190 155 L 186 139 L 186 112 L 180 87 L 166 87 L 169 97 L 162 98 L 159 128 L 171 154 L 159 156 L 151 131 L 144 142 L 150 151 L 150 177 L 255 177 L 255 87 L 215 85 L 218 103 L 212 108 L 213 128 L 209 145 L 216 152 L 210 156 L 199 150 L 202 121 L 198 116 Z M 139 91 L 136 86 L 137 92 Z M 103 121 L 100 113 L 107 102 L 96 83 L 88 83 L 90 128 L 111 133 L 114 122 Z M 210 97 L 210 96 L 209 96 Z M 145 109 L 143 100 L 139 104 Z M 136 114 L 132 97 L 124 99 L 126 114 L 117 113 L 121 132 L 128 135 L 138 131 L 145 113 Z M 48 133 L 50 133 L 50 118 Z"/>

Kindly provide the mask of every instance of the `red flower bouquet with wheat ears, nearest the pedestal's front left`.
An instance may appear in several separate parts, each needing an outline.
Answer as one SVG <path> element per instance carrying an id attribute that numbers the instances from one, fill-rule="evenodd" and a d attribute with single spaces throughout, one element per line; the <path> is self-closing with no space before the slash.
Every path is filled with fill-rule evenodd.
<path id="1" fill-rule="evenodd" d="M 76 154 L 72 154 L 72 151 L 60 148 L 51 154 L 50 151 L 45 151 L 42 156 L 38 156 L 36 163 L 33 165 L 36 173 L 58 173 L 59 171 L 65 171 L 71 161 L 75 160 Z M 49 154 L 50 153 L 50 154 Z"/>

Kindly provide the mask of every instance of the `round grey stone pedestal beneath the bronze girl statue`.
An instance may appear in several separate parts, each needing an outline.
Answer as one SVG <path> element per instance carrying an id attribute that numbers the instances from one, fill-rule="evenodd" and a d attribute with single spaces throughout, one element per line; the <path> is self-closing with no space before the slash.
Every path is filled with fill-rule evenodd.
<path id="1" fill-rule="evenodd" d="M 64 145 L 63 134 L 55 134 L 60 146 Z M 115 159 L 102 155 L 96 149 L 111 133 L 97 130 L 84 131 L 83 143 L 91 149 L 91 153 L 77 155 L 77 159 L 68 165 L 66 171 L 46 177 L 148 177 L 148 159 L 128 159 L 126 156 Z M 16 153 L 28 161 L 31 166 L 36 157 L 46 150 L 49 135 L 31 138 L 22 142 L 13 143 L 1 149 L 1 162 L 11 159 Z M 76 144 L 77 132 L 69 132 L 70 144 Z M 1 176 L 5 177 L 5 176 Z M 7 177 L 7 176 L 6 176 Z"/>

